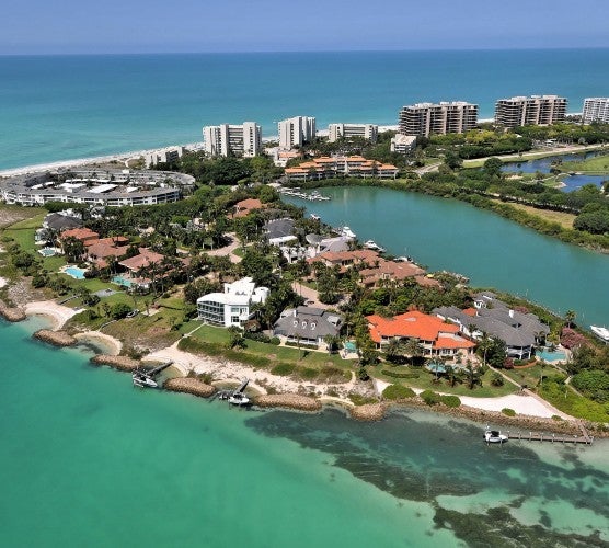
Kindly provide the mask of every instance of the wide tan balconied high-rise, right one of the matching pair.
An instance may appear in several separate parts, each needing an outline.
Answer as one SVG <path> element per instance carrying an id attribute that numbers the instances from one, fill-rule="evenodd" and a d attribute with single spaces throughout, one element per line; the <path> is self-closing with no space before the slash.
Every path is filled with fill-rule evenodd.
<path id="1" fill-rule="evenodd" d="M 505 127 L 548 126 L 564 119 L 566 99 L 558 95 L 531 95 L 499 99 L 495 103 L 495 124 Z"/>

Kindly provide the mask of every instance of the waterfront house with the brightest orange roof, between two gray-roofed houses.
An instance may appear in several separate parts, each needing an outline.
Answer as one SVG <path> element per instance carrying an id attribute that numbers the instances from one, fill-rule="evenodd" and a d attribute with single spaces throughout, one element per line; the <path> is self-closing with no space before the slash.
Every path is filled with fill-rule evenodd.
<path id="1" fill-rule="evenodd" d="M 418 341 L 425 356 L 451 357 L 459 352 L 469 354 L 475 346 L 459 335 L 458 326 L 416 310 L 393 318 L 372 315 L 366 319 L 370 338 L 379 349 L 391 339 L 414 339 Z"/>

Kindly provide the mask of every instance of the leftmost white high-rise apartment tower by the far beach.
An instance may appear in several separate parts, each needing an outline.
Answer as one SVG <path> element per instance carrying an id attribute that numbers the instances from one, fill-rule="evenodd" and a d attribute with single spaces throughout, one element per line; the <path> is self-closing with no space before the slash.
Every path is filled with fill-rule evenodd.
<path id="1" fill-rule="evenodd" d="M 204 150 L 210 156 L 253 157 L 262 153 L 262 129 L 255 122 L 203 128 Z"/>

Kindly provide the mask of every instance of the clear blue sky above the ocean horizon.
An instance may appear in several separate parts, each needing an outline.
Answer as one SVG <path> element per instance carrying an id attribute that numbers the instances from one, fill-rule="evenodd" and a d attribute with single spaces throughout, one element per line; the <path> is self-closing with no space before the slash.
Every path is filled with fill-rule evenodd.
<path id="1" fill-rule="evenodd" d="M 0 55 L 609 47 L 609 0 L 20 0 Z"/>

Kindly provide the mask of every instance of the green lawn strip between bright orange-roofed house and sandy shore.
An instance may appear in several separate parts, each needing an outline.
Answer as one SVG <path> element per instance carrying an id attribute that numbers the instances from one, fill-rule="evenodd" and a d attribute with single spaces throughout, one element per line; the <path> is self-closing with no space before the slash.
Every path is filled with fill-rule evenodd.
<path id="1" fill-rule="evenodd" d="M 397 373 L 413 373 L 420 374 L 418 378 L 394 378 L 388 375 L 383 375 L 382 369 L 389 369 Z M 400 384 L 403 386 L 409 386 L 411 388 L 420 388 L 422 390 L 433 390 L 435 392 L 446 392 L 452 393 L 455 396 L 472 396 L 474 398 L 493 398 L 497 396 L 507 396 L 509 393 L 515 393 L 518 388 L 510 383 L 505 381 L 503 386 L 495 387 L 491 385 L 491 379 L 493 378 L 494 372 L 487 370 L 482 377 L 482 386 L 478 385 L 475 388 L 468 388 L 466 383 L 456 384 L 453 387 L 440 377 L 439 381 L 435 381 L 435 375 L 429 373 L 424 368 L 418 367 L 404 367 L 404 366 L 388 366 L 379 365 L 372 375 L 381 380 L 386 380 L 392 384 Z"/>

